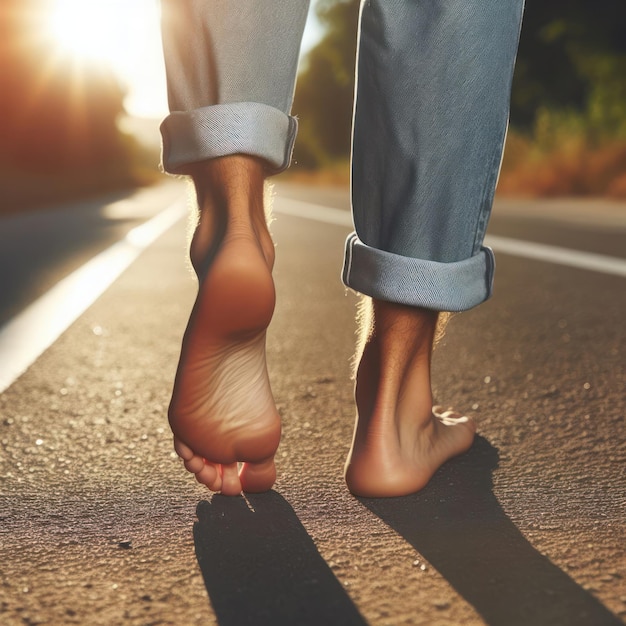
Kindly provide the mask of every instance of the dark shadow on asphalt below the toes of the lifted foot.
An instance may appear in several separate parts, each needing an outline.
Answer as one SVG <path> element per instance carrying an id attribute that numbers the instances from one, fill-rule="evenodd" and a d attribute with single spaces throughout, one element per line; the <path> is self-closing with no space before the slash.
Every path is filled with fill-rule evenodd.
<path id="1" fill-rule="evenodd" d="M 221 626 L 366 624 L 275 491 L 198 504 L 196 557 Z"/>

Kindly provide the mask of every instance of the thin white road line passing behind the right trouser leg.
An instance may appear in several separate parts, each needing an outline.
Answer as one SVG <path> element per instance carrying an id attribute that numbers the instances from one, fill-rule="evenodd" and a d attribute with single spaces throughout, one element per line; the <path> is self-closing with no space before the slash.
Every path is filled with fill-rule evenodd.
<path id="1" fill-rule="evenodd" d="M 274 211 L 276 211 L 276 213 L 284 213 L 285 215 L 294 215 L 296 217 L 325 222 L 327 224 L 337 224 L 339 226 L 353 228 L 352 216 L 347 211 L 302 202 L 301 200 L 276 198 L 274 201 Z M 603 274 L 626 276 L 626 259 L 620 259 L 619 257 L 594 254 L 593 252 L 582 252 L 570 248 L 548 246 L 542 243 L 512 239 L 510 237 L 500 237 L 497 235 L 487 235 L 485 244 L 501 254 L 545 261 L 546 263 L 555 263 L 557 265 L 567 265 L 568 267 L 602 272 Z"/>

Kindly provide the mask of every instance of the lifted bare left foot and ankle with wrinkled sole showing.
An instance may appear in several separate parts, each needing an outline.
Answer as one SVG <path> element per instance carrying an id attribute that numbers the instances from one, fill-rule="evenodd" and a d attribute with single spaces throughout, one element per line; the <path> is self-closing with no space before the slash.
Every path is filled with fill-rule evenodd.
<path id="1" fill-rule="evenodd" d="M 194 181 L 199 289 L 169 408 L 174 447 L 212 491 L 266 491 L 276 479 L 281 426 L 265 363 L 275 292 L 262 166 L 227 157 L 205 164 Z"/>

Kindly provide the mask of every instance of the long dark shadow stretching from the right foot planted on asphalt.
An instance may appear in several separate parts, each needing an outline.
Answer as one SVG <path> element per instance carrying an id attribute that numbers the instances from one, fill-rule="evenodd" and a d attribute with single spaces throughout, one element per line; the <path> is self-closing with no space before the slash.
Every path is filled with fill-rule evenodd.
<path id="1" fill-rule="evenodd" d="M 477 437 L 426 489 L 404 498 L 359 498 L 404 537 L 492 626 L 621 624 L 540 554 L 493 493 L 497 450 Z"/>

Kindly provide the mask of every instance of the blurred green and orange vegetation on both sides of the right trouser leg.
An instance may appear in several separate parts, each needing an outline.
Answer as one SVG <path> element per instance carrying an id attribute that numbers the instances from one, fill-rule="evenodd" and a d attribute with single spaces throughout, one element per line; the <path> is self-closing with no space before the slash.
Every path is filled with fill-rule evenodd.
<path id="1" fill-rule="evenodd" d="M 358 0 L 320 0 L 291 176 L 345 183 Z M 527 0 L 499 193 L 626 198 L 626 3 Z"/>

